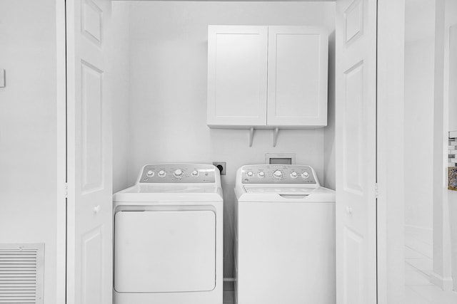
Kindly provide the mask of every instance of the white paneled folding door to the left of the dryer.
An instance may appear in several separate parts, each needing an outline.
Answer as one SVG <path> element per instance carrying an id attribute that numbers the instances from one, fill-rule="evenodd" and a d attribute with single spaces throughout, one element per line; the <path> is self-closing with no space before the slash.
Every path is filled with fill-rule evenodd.
<path id="1" fill-rule="evenodd" d="M 112 303 L 111 0 L 66 1 L 67 304 Z"/>

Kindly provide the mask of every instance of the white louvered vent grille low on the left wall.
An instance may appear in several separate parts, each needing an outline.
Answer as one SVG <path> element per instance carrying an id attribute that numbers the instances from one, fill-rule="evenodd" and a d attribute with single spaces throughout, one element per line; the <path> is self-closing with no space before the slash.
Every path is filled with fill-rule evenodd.
<path id="1" fill-rule="evenodd" d="M 0 304 L 42 304 L 44 243 L 0 243 Z"/>

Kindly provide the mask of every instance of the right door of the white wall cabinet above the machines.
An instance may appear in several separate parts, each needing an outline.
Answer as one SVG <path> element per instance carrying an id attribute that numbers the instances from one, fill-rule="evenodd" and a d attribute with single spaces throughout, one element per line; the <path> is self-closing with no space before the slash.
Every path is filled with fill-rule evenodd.
<path id="1" fill-rule="evenodd" d="M 327 125 L 328 33 L 268 26 L 268 125 Z"/>

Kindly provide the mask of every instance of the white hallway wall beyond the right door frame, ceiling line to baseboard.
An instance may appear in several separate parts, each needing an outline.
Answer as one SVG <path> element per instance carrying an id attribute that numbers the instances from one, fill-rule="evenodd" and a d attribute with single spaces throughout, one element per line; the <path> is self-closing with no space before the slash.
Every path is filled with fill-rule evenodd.
<path id="1" fill-rule="evenodd" d="M 407 41 L 405 45 L 405 224 L 430 231 L 434 48 L 433 36 Z"/>

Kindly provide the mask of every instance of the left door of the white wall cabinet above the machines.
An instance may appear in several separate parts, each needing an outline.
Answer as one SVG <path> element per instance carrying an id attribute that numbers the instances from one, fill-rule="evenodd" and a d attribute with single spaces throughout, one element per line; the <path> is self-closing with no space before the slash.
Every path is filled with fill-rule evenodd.
<path id="1" fill-rule="evenodd" d="M 266 125 L 266 26 L 209 26 L 208 125 Z"/>

